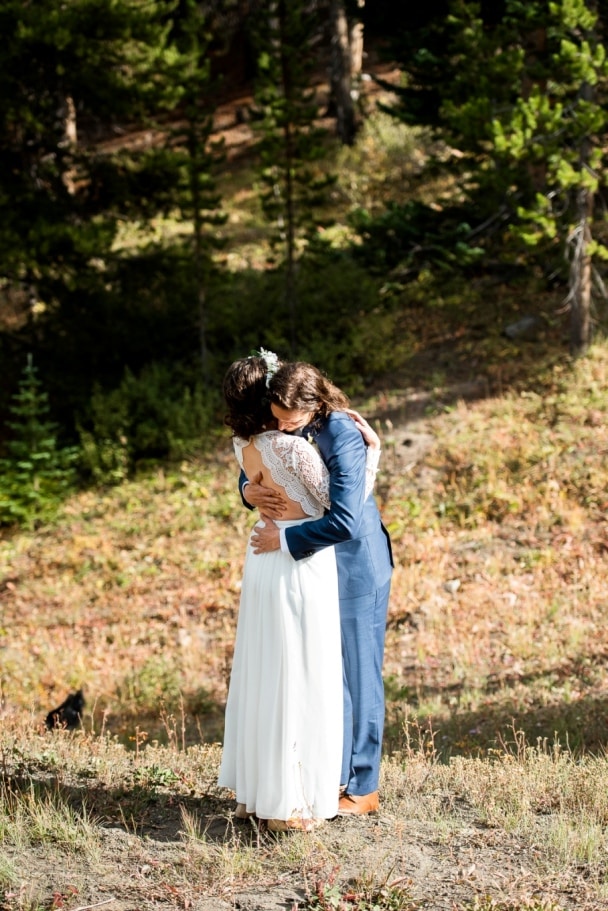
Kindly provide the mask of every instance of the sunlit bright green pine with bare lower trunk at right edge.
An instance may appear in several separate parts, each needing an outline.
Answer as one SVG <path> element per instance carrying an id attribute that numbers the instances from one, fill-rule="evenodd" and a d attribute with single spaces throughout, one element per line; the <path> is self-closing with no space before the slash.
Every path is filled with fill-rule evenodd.
<path id="1" fill-rule="evenodd" d="M 584 353 L 591 341 L 593 260 L 608 259 L 608 247 L 594 240 L 594 203 L 606 186 L 608 60 L 592 6 L 590 0 L 549 4 L 541 23 L 544 53 L 523 58 L 528 72 L 534 64 L 529 90 L 507 117 L 493 119 L 497 156 L 523 163 L 540 177 L 533 198 L 518 208 L 516 231 L 532 247 L 556 238 L 566 249 L 574 354 Z M 508 5 L 512 26 L 522 8 L 519 2 Z M 537 18 L 539 13 L 537 8 Z"/>

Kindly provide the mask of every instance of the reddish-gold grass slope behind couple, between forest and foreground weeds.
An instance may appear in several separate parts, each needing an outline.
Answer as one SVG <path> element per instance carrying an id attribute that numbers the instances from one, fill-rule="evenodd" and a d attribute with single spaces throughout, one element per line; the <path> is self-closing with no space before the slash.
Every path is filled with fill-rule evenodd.
<path id="1" fill-rule="evenodd" d="M 438 389 L 416 420 L 379 419 L 390 748 L 406 717 L 432 717 L 444 754 L 484 753 L 513 719 L 532 743 L 606 742 L 607 374 L 597 346 L 541 391 L 446 406 Z M 433 446 L 405 470 L 401 438 L 421 429 Z M 229 450 L 222 437 L 213 457 L 83 493 L 55 526 L 4 537 L 5 717 L 40 719 L 84 685 L 87 730 L 138 746 L 219 738 L 253 521 Z"/>

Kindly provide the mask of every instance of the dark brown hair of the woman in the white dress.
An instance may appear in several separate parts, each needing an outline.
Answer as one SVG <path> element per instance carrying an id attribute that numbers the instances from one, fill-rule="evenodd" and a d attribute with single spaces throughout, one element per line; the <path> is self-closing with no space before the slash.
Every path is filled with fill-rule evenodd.
<path id="1" fill-rule="evenodd" d="M 266 388 L 267 365 L 261 357 L 244 357 L 230 365 L 223 392 L 228 406 L 224 423 L 244 440 L 274 426 Z"/>

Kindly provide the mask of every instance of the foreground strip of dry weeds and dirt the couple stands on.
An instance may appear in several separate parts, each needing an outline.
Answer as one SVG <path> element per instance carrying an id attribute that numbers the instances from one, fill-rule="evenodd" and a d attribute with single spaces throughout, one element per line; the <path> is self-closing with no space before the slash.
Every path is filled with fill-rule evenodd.
<path id="1" fill-rule="evenodd" d="M 484 759 L 442 763 L 427 731 L 407 735 L 383 764 L 377 822 L 276 839 L 231 819 L 218 747 L 136 752 L 107 736 L 5 725 L 0 907 L 188 908 L 202 895 L 228 908 L 257 895 L 252 907 L 270 909 L 279 905 L 260 896 L 284 900 L 294 884 L 299 911 L 441 909 L 442 884 L 455 911 L 608 907 L 603 757 L 516 734 Z"/>

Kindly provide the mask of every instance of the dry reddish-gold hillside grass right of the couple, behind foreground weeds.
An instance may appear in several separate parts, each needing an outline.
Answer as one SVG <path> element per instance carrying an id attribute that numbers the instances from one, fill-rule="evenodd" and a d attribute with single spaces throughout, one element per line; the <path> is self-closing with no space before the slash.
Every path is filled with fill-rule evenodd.
<path id="1" fill-rule="evenodd" d="M 598 346 L 542 394 L 440 406 L 425 464 L 386 483 L 389 691 L 452 753 L 484 752 L 512 718 L 531 742 L 606 742 L 607 374 Z"/>

